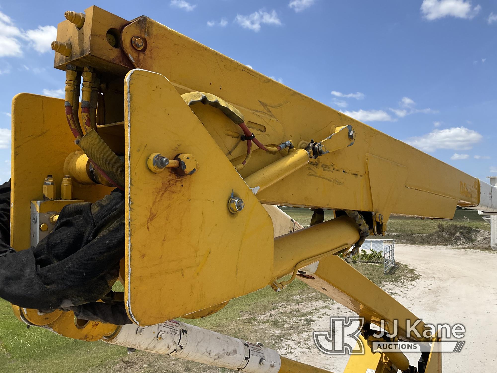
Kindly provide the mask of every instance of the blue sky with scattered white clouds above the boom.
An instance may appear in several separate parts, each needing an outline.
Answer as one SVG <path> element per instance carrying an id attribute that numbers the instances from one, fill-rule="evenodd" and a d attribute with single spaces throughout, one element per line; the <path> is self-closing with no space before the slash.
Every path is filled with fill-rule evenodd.
<path id="1" fill-rule="evenodd" d="M 497 2 L 0 1 L 0 179 L 10 103 L 62 96 L 50 42 L 64 11 L 149 17 L 480 179 L 497 174 Z M 494 145 L 493 145 L 494 144 Z"/>

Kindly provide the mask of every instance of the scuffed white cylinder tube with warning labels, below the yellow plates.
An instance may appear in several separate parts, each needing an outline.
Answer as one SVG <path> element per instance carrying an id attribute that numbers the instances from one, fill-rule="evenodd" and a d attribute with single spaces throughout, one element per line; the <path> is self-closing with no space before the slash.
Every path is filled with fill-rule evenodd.
<path id="1" fill-rule="evenodd" d="M 105 342 L 241 372 L 277 373 L 281 366 L 274 350 L 176 320 L 123 325 Z"/>

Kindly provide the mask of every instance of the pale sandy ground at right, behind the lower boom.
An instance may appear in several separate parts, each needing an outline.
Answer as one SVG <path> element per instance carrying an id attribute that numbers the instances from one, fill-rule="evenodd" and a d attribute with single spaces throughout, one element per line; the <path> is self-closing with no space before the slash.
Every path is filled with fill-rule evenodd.
<path id="1" fill-rule="evenodd" d="M 493 372 L 497 365 L 494 338 L 497 335 L 497 253 L 460 250 L 443 246 L 400 245 L 395 259 L 420 274 L 409 286 L 394 291 L 394 297 L 425 322 L 466 327 L 466 343 L 459 353 L 442 358 L 444 372 Z M 302 305 L 305 306 L 305 303 Z M 309 306 L 309 305 L 308 305 Z M 330 316 L 353 316 L 340 304 L 313 304 L 316 309 L 308 333 L 289 336 L 278 352 L 303 363 L 342 372 L 347 356 L 321 353 L 312 342 L 312 330 L 330 329 Z M 417 367 L 417 354 L 409 354 Z"/>

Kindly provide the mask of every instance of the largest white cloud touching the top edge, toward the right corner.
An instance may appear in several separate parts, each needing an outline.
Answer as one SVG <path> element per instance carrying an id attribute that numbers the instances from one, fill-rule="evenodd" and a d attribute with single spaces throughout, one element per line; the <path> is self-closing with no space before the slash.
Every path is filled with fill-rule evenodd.
<path id="1" fill-rule="evenodd" d="M 481 8 L 473 8 L 470 0 L 423 0 L 421 13 L 430 21 L 443 17 L 472 19 Z"/>

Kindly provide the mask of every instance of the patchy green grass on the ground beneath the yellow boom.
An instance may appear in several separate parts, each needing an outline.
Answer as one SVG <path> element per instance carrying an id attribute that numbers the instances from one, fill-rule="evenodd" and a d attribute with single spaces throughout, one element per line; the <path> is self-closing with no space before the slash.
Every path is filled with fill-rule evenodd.
<path id="1" fill-rule="evenodd" d="M 384 276 L 383 266 L 376 264 L 358 263 L 353 266 L 380 286 L 386 282 L 415 280 L 413 270 L 406 266 L 389 276 Z M 320 315 L 327 308 L 313 306 L 319 300 L 333 303 L 304 282 L 295 280 L 281 292 L 274 292 L 268 286 L 231 300 L 224 309 L 211 316 L 182 321 L 277 348 L 289 335 L 310 330 L 313 316 Z M 305 303 L 305 307 L 298 307 L 302 303 Z M 123 347 L 103 342 L 77 341 L 42 328 L 26 329 L 26 325 L 14 317 L 10 304 L 1 299 L 0 367 L 2 373 L 230 372 L 140 351 L 128 355 Z"/>

